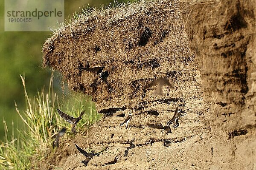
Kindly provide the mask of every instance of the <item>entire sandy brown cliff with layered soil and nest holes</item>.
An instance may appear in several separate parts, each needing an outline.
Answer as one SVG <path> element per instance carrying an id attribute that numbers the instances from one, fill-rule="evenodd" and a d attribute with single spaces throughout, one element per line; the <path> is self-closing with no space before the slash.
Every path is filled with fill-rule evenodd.
<path id="1" fill-rule="evenodd" d="M 44 65 L 105 118 L 80 143 L 111 146 L 66 169 L 255 169 L 255 9 L 248 1 L 154 1 L 81 17 L 43 47 Z M 102 67 L 107 82 L 81 67 Z M 163 96 L 147 88 L 164 77 Z M 175 109 L 186 111 L 165 134 Z M 130 128 L 119 127 L 131 112 Z M 81 139 L 81 140 L 80 140 Z M 135 147 L 134 147 L 135 146 Z M 70 146 L 75 149 L 75 146 Z"/>

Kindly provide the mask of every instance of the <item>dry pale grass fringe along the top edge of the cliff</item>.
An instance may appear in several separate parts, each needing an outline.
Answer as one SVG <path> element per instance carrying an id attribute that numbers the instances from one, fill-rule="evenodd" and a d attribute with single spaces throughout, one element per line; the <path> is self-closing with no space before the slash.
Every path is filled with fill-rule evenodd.
<path id="1" fill-rule="evenodd" d="M 162 13 L 166 11 L 173 11 L 179 9 L 179 1 L 172 0 L 172 7 L 166 9 L 154 9 L 157 4 L 160 6 L 162 3 L 161 0 L 140 0 L 133 3 L 118 3 L 114 1 L 109 6 L 102 6 L 101 8 L 84 8 L 80 13 L 75 12 L 73 14 L 73 18 L 69 18 L 67 23 L 59 23 L 58 28 L 51 29 L 53 34 L 60 36 L 61 31 L 66 28 L 69 28 L 71 32 L 76 32 L 77 26 L 82 26 L 84 24 L 91 24 L 92 20 L 97 19 L 98 17 L 105 17 L 108 15 L 112 15 L 108 17 L 108 20 L 105 22 L 106 27 L 110 27 L 113 25 L 119 25 L 120 22 L 128 19 L 129 17 L 147 12 L 152 13 Z M 154 9 L 154 10 L 152 10 Z M 84 33 L 93 30 L 97 25 L 92 25 L 86 29 L 84 29 Z"/>

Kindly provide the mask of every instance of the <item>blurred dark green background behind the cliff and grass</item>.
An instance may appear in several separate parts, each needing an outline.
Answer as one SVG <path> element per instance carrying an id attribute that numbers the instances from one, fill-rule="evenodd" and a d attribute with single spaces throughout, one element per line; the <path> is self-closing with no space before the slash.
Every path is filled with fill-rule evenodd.
<path id="1" fill-rule="evenodd" d="M 117 0 L 118 3 L 129 0 Z M 130 0 L 132 1 L 132 0 Z M 89 7 L 100 8 L 113 4 L 113 0 L 65 0 L 65 20 L 73 18 L 73 13 Z M 41 47 L 52 32 L 8 32 L 4 31 L 4 0 L 0 3 L 0 140 L 4 136 L 3 119 L 8 127 L 23 128 L 15 111 L 14 101 L 23 112 L 24 91 L 20 74 L 26 78 L 26 88 L 30 97 L 42 88 L 48 89 L 51 71 L 42 67 Z M 55 92 L 62 94 L 60 76 L 55 73 Z M 60 100 L 61 101 L 61 100 Z"/>

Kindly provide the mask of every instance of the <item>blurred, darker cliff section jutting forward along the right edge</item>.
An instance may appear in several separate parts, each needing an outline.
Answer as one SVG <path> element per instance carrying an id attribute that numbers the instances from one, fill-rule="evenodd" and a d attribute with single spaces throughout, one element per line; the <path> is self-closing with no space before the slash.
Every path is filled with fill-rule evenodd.
<path id="1" fill-rule="evenodd" d="M 181 5 L 204 100 L 214 103 L 209 118 L 209 141 L 215 141 L 212 169 L 256 168 L 255 4 L 236 0 Z"/>

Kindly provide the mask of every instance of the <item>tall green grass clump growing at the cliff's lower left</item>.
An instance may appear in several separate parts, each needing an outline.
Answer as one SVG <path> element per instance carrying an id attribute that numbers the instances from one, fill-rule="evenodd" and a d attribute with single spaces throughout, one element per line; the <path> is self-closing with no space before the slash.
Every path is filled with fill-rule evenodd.
<path id="1" fill-rule="evenodd" d="M 49 82 L 48 92 L 45 93 L 43 89 L 41 92 L 38 91 L 37 95 L 33 98 L 29 98 L 25 79 L 22 76 L 20 77 L 24 88 L 26 110 L 20 113 L 16 102 L 15 109 L 26 128 L 22 131 L 17 129 L 18 135 L 15 136 L 14 128 L 12 127 L 12 131 L 9 132 L 9 128 L 3 119 L 5 142 L 0 141 L 1 170 L 27 170 L 31 167 L 37 167 L 32 163 L 32 159 L 38 160 L 33 162 L 39 163 L 40 160 L 49 156 L 54 150 L 52 142 L 55 139 L 55 135 L 63 127 L 67 128 L 67 132 L 61 138 L 60 145 L 68 137 L 72 138 L 74 136 L 70 132 L 71 125 L 59 116 L 57 108 L 73 117 L 79 116 L 80 112 L 85 110 L 85 114 L 77 125 L 79 133 L 83 133 L 87 127 L 93 125 L 93 123 L 101 118 L 91 100 L 84 101 L 75 98 L 73 99 L 75 104 L 71 104 L 71 107 L 68 102 L 65 106 L 61 107 L 58 102 L 58 95 L 54 93 L 53 89 L 53 74 Z M 12 122 L 12 125 L 14 125 L 14 122 Z"/>

